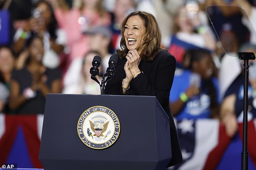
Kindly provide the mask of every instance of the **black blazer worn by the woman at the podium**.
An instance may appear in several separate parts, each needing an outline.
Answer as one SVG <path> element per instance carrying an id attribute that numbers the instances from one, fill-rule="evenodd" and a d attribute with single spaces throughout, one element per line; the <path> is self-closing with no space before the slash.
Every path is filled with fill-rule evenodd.
<path id="1" fill-rule="evenodd" d="M 122 80 L 126 77 L 124 71 L 126 61 L 126 58 L 120 59 L 118 57 L 118 63 L 115 68 L 116 72 L 112 79 L 107 82 L 105 94 L 124 95 Z M 125 95 L 156 96 L 158 102 L 170 117 L 172 160 L 168 166 L 181 163 L 183 160 L 180 144 L 169 104 L 170 90 L 176 69 L 176 59 L 167 51 L 161 50 L 152 62 L 141 60 L 138 68 L 142 73 L 130 82 L 130 88 L 126 91 Z"/>

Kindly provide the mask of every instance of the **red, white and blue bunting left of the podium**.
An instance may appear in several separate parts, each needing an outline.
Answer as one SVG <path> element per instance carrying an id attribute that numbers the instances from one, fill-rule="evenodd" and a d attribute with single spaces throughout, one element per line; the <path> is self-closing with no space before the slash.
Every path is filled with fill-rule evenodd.
<path id="1" fill-rule="evenodd" d="M 43 168 L 38 159 L 43 115 L 0 114 L 0 163 Z"/>

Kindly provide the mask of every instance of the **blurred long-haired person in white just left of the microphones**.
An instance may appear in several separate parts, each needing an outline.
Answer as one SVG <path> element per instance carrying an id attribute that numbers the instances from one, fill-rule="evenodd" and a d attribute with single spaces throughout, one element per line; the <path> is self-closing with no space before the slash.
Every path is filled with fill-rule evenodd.
<path id="1" fill-rule="evenodd" d="M 101 94 L 100 85 L 91 79 L 90 68 L 95 55 L 100 55 L 97 51 L 88 51 L 83 59 L 76 59 L 76 66 L 72 66 L 72 77 L 64 80 L 62 93 L 64 94 Z M 73 63 L 74 64 L 74 63 Z M 102 72 L 102 66 L 99 67 Z M 99 82 L 101 79 L 97 76 Z M 68 82 L 67 82 L 68 81 Z"/>

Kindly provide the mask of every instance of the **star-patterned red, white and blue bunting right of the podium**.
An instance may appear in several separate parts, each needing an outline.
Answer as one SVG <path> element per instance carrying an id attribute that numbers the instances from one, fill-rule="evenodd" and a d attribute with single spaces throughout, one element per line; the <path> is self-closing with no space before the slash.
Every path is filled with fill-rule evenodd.
<path id="1" fill-rule="evenodd" d="M 169 170 L 240 170 L 243 124 L 230 138 L 216 119 L 176 122 L 183 163 Z M 256 119 L 248 122 L 248 169 L 256 170 Z"/>

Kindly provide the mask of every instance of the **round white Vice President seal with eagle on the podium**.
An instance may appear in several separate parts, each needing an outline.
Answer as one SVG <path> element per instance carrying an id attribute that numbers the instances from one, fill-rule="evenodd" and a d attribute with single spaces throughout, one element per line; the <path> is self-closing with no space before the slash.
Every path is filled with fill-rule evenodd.
<path id="1" fill-rule="evenodd" d="M 90 107 L 78 120 L 78 135 L 82 142 L 94 149 L 104 149 L 118 139 L 118 117 L 107 107 Z"/>

